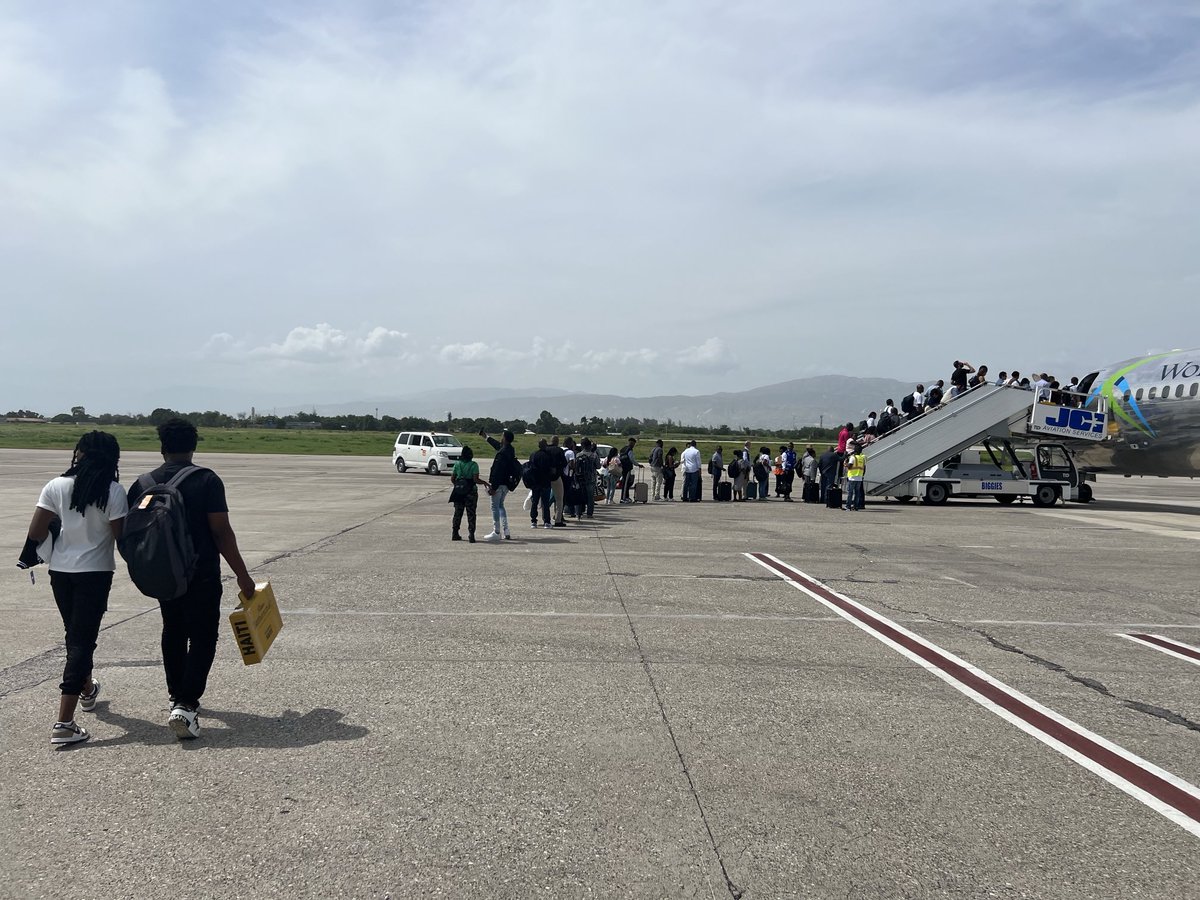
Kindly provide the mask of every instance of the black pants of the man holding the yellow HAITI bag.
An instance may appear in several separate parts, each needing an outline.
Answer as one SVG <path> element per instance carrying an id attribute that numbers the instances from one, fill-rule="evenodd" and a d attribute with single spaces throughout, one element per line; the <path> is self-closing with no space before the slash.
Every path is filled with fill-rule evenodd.
<path id="1" fill-rule="evenodd" d="M 221 624 L 221 571 L 192 578 L 187 592 L 160 600 L 162 612 L 162 666 L 170 702 L 198 707 L 217 654 Z"/>

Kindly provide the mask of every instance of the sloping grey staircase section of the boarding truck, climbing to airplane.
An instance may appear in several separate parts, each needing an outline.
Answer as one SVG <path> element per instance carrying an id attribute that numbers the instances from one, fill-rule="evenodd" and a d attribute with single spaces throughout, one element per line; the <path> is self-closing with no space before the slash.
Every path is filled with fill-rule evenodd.
<path id="1" fill-rule="evenodd" d="M 985 438 L 1025 433 L 1033 394 L 980 385 L 911 419 L 865 449 L 866 494 L 895 494 L 916 475 Z"/>

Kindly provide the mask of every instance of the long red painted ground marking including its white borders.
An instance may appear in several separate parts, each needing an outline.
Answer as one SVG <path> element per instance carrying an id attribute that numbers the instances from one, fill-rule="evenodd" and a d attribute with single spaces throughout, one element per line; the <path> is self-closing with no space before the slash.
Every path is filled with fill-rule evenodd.
<path id="1" fill-rule="evenodd" d="M 1042 706 L 980 668 L 826 587 L 769 553 L 746 553 L 792 587 L 908 658 L 1007 722 L 1200 838 L 1200 788 Z"/>

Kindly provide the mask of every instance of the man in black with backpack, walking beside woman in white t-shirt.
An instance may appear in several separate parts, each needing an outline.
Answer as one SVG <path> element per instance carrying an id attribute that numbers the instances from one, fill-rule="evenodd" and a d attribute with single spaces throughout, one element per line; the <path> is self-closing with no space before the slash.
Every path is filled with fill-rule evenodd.
<path id="1" fill-rule="evenodd" d="M 155 598 L 162 613 L 162 665 L 170 696 L 167 726 L 180 740 L 200 736 L 200 697 L 216 656 L 221 625 L 222 557 L 233 570 L 241 593 L 247 598 L 254 595 L 254 580 L 246 570 L 238 538 L 229 524 L 224 482 L 211 469 L 192 464 L 198 440 L 196 426 L 186 419 L 169 419 L 158 426 L 163 464 L 138 478 L 130 487 L 128 504 L 134 515 L 121 540 L 121 556 L 128 563 L 136 558 L 131 542 L 137 540 L 132 532 L 139 502 L 145 497 L 148 505 L 142 511 L 149 511 L 158 486 L 191 469 L 175 482 L 174 491 L 182 504 L 186 538 L 194 548 L 194 565 L 186 572 L 181 594 Z M 131 563 L 130 577 L 137 584 L 133 569 Z"/>

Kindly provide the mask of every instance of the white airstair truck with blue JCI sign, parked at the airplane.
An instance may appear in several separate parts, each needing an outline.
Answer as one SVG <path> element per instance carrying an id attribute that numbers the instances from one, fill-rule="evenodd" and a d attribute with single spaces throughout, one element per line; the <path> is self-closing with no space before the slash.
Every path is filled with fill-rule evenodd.
<path id="1" fill-rule="evenodd" d="M 864 492 L 871 497 L 946 503 L 950 497 L 1030 497 L 1049 506 L 1060 498 L 1087 502 L 1084 481 L 1064 444 L 1044 437 L 1104 439 L 1104 413 L 1037 402 L 1030 391 L 980 385 L 905 422 L 871 443 Z M 1086 421 L 1085 421 L 1086 420 Z M 1012 442 L 1033 444 L 1026 469 Z M 973 461 L 962 452 L 983 448 Z"/>

